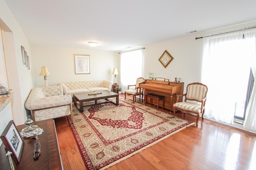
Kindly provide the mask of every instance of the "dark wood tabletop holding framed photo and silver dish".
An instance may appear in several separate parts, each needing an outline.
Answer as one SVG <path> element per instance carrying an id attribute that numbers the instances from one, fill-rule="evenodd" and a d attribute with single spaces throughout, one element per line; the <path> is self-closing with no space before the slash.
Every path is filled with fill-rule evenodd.
<path id="1" fill-rule="evenodd" d="M 34 122 L 32 125 L 38 125 L 44 132 L 38 136 L 41 142 L 41 155 L 34 159 L 33 148 L 35 138 L 22 137 L 24 141 L 24 148 L 22 150 L 20 163 L 14 164 L 15 170 L 62 170 L 62 160 L 56 135 L 55 123 L 53 119 Z M 18 125 L 16 128 L 20 132 L 27 125 Z M 10 170 L 10 163 L 7 151 L 4 145 L 0 147 L 0 169 Z"/>

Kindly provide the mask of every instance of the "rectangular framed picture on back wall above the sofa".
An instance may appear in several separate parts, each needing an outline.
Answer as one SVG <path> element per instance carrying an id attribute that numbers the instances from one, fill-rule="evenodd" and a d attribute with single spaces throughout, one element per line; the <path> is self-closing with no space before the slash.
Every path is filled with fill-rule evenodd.
<path id="1" fill-rule="evenodd" d="M 90 73 L 90 55 L 75 54 L 75 74 Z"/>

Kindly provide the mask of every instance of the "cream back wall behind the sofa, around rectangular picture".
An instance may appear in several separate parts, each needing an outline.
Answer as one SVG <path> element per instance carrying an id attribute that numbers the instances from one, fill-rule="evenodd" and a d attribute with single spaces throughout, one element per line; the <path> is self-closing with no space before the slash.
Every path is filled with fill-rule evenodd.
<path id="1" fill-rule="evenodd" d="M 46 66 L 51 74 L 47 76 L 49 86 L 60 82 L 114 81 L 112 71 L 117 67 L 116 52 L 45 45 L 31 45 L 31 51 L 35 87 L 44 86 L 44 76 L 39 76 L 42 66 Z M 90 74 L 75 74 L 74 54 L 90 55 Z"/>

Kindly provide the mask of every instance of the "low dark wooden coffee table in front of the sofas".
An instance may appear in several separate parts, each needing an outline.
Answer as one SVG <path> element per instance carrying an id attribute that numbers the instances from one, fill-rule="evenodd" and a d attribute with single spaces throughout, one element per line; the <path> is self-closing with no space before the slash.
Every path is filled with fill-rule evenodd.
<path id="1" fill-rule="evenodd" d="M 73 94 L 73 101 L 74 101 L 74 105 L 77 107 L 77 103 L 76 102 L 79 102 L 79 111 L 80 112 L 84 112 L 84 104 L 83 102 L 88 102 L 88 101 L 95 101 L 95 104 L 101 104 L 101 103 L 106 103 L 106 102 L 112 102 L 112 100 L 108 100 L 108 98 L 116 98 L 116 105 L 119 105 L 119 95 L 117 93 L 114 93 L 114 92 L 110 92 L 108 90 L 103 90 L 103 91 L 100 91 L 102 92 L 102 94 L 92 94 L 92 95 L 89 95 L 89 93 L 92 93 L 92 92 L 85 92 L 85 93 L 76 93 L 76 94 Z M 97 103 L 97 100 L 100 100 L 100 99 L 106 99 L 106 102 L 100 102 L 100 103 Z"/>

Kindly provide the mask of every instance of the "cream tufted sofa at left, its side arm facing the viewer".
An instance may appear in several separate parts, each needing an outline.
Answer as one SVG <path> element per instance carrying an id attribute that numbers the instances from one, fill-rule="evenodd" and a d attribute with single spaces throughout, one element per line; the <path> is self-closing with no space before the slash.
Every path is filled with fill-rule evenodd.
<path id="1" fill-rule="evenodd" d="M 64 95 L 62 86 L 33 88 L 25 102 L 34 121 L 70 115 L 73 123 L 72 96 Z"/>

